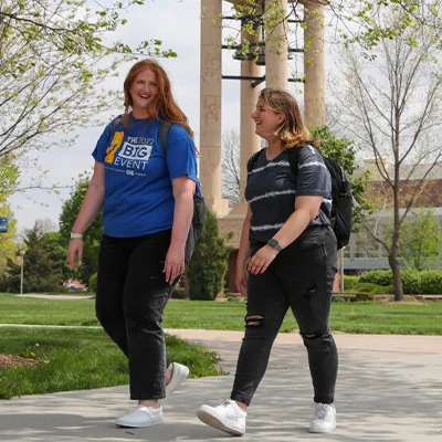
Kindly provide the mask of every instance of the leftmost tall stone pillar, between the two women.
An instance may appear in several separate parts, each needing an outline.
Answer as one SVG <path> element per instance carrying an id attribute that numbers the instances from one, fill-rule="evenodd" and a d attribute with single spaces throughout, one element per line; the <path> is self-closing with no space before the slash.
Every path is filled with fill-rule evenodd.
<path id="1" fill-rule="evenodd" d="M 218 217 L 229 212 L 229 201 L 221 198 L 221 4 L 201 0 L 200 179 Z"/>

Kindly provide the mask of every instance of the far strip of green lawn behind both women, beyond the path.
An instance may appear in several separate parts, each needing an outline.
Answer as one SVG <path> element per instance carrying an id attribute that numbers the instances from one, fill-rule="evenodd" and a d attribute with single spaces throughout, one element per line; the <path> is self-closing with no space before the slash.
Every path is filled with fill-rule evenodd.
<path id="1" fill-rule="evenodd" d="M 240 302 L 170 301 L 165 328 L 244 330 L 245 304 Z M 333 303 L 332 329 L 343 333 L 442 335 L 442 302 L 385 305 L 375 302 Z M 98 325 L 94 301 L 19 298 L 0 295 L 0 323 Z M 291 313 L 282 332 L 296 329 Z"/>

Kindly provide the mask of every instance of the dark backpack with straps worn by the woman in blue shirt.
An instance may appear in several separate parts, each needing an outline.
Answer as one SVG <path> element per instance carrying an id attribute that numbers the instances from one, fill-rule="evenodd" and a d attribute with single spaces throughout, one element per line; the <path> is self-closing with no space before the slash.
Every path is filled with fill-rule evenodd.
<path id="1" fill-rule="evenodd" d="M 123 115 L 118 115 L 112 122 L 109 140 L 112 140 L 114 138 L 115 131 L 116 131 L 118 125 L 122 123 L 122 119 L 123 119 Z M 158 140 L 162 148 L 162 154 L 164 154 L 165 158 L 166 158 L 166 148 L 167 148 L 167 136 L 169 135 L 169 131 L 172 126 L 173 126 L 172 123 L 159 120 Z M 200 186 L 200 189 L 201 189 L 201 185 L 200 183 L 198 183 L 198 185 Z M 201 236 L 202 229 L 204 227 L 204 221 L 206 221 L 204 198 L 202 197 L 202 194 L 197 194 L 197 192 L 194 192 L 194 194 L 193 194 L 193 217 L 192 217 L 191 229 L 190 229 L 191 231 L 189 232 L 189 236 L 187 239 L 187 244 L 186 244 L 187 250 L 190 249 L 193 252 L 194 244 Z M 192 252 L 190 252 L 190 254 Z"/>

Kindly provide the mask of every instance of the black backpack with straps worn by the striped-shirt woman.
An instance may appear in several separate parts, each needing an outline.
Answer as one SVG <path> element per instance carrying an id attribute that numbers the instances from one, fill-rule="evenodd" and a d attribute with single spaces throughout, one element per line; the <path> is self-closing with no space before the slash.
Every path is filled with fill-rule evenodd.
<path id="1" fill-rule="evenodd" d="M 303 145 L 301 148 L 303 148 Z M 261 149 L 249 159 L 248 171 L 253 169 L 253 165 L 257 160 L 261 152 L 265 149 Z M 297 164 L 299 158 L 299 148 L 287 149 L 288 161 L 291 165 L 292 172 L 297 177 Z M 343 249 L 348 244 L 351 234 L 351 214 L 352 214 L 352 194 L 351 194 L 351 182 L 347 179 L 344 169 L 339 164 L 329 157 L 323 157 L 324 164 L 326 165 L 332 177 L 332 215 L 329 218 L 330 225 L 335 232 L 338 250 Z"/>

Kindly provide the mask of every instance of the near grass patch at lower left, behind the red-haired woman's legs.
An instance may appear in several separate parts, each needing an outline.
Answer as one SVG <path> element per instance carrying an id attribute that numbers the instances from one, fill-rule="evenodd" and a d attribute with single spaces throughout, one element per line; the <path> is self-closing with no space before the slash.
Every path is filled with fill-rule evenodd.
<path id="1" fill-rule="evenodd" d="M 192 377 L 219 373 L 218 355 L 203 346 L 167 336 L 167 350 Z M 0 399 L 129 382 L 126 357 L 102 329 L 2 327 L 0 354 L 40 362 L 0 368 Z"/>

